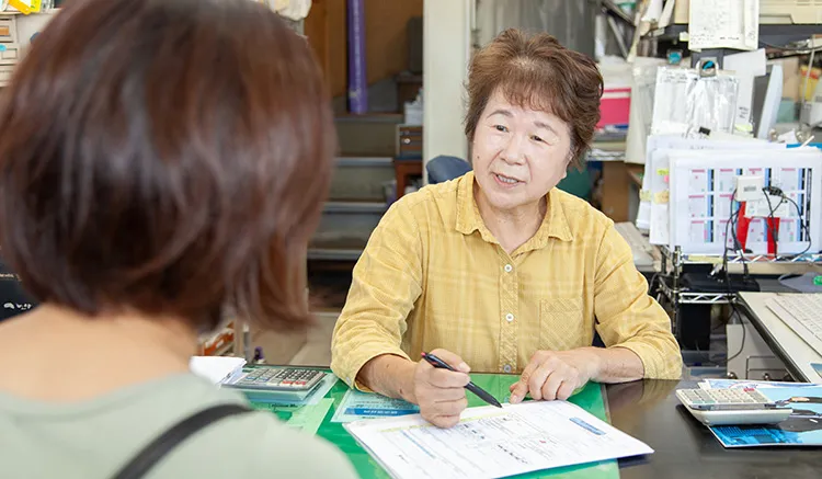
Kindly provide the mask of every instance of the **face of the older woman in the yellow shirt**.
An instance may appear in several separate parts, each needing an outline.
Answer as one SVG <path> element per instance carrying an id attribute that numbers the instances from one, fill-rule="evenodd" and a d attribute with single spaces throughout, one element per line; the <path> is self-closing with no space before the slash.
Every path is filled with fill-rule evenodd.
<path id="1" fill-rule="evenodd" d="M 499 210 L 539 202 L 566 178 L 571 135 L 559 117 L 511 104 L 496 91 L 477 124 L 473 172 L 480 194 Z"/>

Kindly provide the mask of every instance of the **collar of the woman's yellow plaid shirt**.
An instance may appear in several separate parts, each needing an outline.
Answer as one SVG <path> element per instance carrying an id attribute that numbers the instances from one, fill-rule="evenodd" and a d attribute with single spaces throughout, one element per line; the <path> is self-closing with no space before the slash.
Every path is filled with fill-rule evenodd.
<path id="1" fill-rule="evenodd" d="M 466 173 L 459 180 L 457 189 L 457 231 L 463 235 L 471 235 L 473 231 L 480 231 L 482 239 L 489 242 L 496 242 L 493 235 L 488 230 L 477 206 L 477 199 L 473 197 L 473 172 Z M 525 242 L 521 249 L 540 249 L 548 243 L 549 238 L 557 238 L 560 241 L 572 241 L 571 227 L 568 224 L 566 210 L 562 207 L 561 193 L 557 187 L 552 187 L 546 195 L 547 210 L 543 224 L 539 226 L 536 235 Z"/>

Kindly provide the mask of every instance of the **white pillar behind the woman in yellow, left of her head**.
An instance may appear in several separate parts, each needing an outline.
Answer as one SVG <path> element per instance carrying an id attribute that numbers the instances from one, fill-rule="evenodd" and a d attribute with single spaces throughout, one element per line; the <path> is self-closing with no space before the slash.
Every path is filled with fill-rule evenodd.
<path id="1" fill-rule="evenodd" d="M 463 133 L 464 83 L 470 55 L 473 3 L 473 0 L 424 0 L 423 3 L 423 162 L 437 155 L 459 158 L 468 155 Z"/>

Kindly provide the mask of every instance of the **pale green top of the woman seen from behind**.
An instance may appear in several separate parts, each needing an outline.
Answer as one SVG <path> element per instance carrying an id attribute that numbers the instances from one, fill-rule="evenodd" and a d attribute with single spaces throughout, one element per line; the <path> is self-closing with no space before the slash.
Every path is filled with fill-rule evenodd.
<path id="1" fill-rule="evenodd" d="M 59 369 L 56 369 L 58 372 Z M 116 374 L 116 373 L 114 373 Z M 243 403 L 191 374 L 135 385 L 92 400 L 24 400 L 0 387 L 0 477 L 110 479 L 159 434 L 215 404 Z M 354 478 L 336 448 L 271 412 L 215 422 L 181 443 L 147 479 Z"/>

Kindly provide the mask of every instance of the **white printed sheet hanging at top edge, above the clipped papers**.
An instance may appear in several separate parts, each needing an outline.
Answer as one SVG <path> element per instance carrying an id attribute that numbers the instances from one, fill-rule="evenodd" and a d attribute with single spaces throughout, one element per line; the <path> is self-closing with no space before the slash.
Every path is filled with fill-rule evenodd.
<path id="1" fill-rule="evenodd" d="M 688 48 L 755 50 L 760 42 L 760 0 L 690 0 Z"/>

